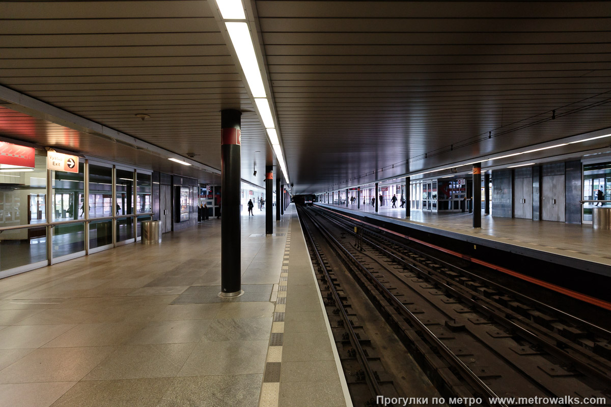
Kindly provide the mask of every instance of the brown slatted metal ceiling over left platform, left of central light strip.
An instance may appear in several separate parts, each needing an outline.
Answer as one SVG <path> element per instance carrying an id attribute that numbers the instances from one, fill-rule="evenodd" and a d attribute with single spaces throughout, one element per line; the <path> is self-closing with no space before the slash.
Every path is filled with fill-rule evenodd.
<path id="1" fill-rule="evenodd" d="M 242 177 L 264 185 L 252 165 L 263 174 L 271 148 L 208 2 L 2 2 L 0 16 L 0 84 L 213 168 L 220 110 L 242 110 Z M 20 115 L 4 119 L 2 135 L 208 177 Z"/>

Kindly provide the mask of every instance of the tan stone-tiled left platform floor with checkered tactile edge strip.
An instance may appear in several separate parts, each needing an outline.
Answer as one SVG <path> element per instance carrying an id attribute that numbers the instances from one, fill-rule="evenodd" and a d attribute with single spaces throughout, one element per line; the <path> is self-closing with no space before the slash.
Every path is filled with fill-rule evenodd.
<path id="1" fill-rule="evenodd" d="M 0 280 L 0 404 L 351 405 L 295 208 L 274 224 L 242 216 L 237 298 L 216 218 Z"/>

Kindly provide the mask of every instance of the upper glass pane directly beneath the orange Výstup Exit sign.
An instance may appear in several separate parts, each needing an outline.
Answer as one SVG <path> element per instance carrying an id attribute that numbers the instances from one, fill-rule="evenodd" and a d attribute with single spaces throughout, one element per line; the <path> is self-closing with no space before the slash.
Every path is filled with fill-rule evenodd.
<path id="1" fill-rule="evenodd" d="M 78 173 L 51 171 L 54 221 L 85 218 L 85 165 L 79 163 Z"/>

